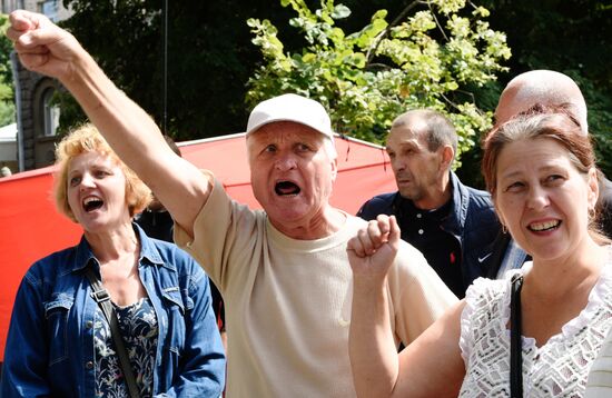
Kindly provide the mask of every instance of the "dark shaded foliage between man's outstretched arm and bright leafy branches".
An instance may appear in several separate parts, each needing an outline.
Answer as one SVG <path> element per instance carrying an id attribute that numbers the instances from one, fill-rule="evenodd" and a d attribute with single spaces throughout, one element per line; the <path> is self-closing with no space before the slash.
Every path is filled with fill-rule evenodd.
<path id="1" fill-rule="evenodd" d="M 164 1 L 65 0 L 70 30 L 105 72 L 162 125 Z M 247 18 L 286 12 L 268 0 L 168 0 L 167 129 L 178 140 L 243 131 L 245 82 L 258 51 Z M 62 126 L 85 118 L 60 99 Z M 69 106 L 70 105 L 70 106 Z"/>

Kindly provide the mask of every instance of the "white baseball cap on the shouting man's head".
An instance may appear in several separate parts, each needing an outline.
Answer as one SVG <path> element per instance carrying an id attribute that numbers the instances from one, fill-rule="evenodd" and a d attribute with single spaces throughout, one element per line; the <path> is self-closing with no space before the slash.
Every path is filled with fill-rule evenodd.
<path id="1" fill-rule="evenodd" d="M 329 115 L 319 102 L 306 97 L 288 93 L 259 102 L 248 117 L 247 136 L 275 121 L 294 121 L 334 139 Z"/>

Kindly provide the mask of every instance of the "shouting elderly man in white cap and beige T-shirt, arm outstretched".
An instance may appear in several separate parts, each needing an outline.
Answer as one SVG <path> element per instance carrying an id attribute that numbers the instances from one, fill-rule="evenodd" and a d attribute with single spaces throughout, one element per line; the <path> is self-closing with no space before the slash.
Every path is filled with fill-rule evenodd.
<path id="1" fill-rule="evenodd" d="M 227 394 L 355 396 L 346 243 L 366 222 L 329 206 L 337 168 L 325 109 L 285 94 L 253 110 L 246 141 L 253 190 L 265 210 L 253 211 L 233 201 L 210 172 L 176 156 L 147 113 L 71 34 L 27 11 L 13 12 L 10 22 L 8 36 L 21 62 L 70 90 L 170 211 L 175 240 L 219 287 L 227 304 Z M 367 233 L 362 238 L 368 239 Z M 397 344 L 409 344 L 456 301 L 407 243 L 399 249 L 387 290 L 388 327 Z M 189 302 L 177 307 L 189 310 Z"/>

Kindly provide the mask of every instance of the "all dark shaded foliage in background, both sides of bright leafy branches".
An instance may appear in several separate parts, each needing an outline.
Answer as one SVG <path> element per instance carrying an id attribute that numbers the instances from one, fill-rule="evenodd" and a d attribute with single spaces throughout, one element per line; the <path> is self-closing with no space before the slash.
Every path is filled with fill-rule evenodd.
<path id="1" fill-rule="evenodd" d="M 160 122 L 162 119 L 162 1 L 156 0 L 63 0 L 76 14 L 66 23 L 105 71 Z M 305 0 L 312 10 L 320 0 Z M 453 3 L 451 1 L 450 3 Z M 458 89 L 447 94 L 454 103 L 465 98 L 478 109 L 493 111 L 505 83 L 514 76 L 535 68 L 554 69 L 574 78 L 589 106 L 589 121 L 595 137 L 600 166 L 612 176 L 612 9 L 610 1 L 594 0 L 472 0 L 475 6 L 458 10 L 463 18 L 486 20 L 491 28 L 507 34 L 512 59 L 504 62 L 507 72 L 500 71 L 500 81 L 481 83 L 460 82 Z M 246 82 L 261 62 L 259 48 L 250 42 L 253 33 L 245 23 L 248 18 L 268 19 L 278 29 L 277 39 L 286 54 L 302 54 L 310 46 L 302 29 L 287 23 L 296 13 L 278 1 L 169 1 L 168 14 L 168 129 L 178 139 L 196 139 L 241 131 L 253 100 L 245 105 Z M 397 19 L 411 0 L 343 0 L 351 17 L 333 19 L 333 28 L 343 32 L 359 32 L 372 24 L 372 16 L 379 9 L 388 10 L 385 19 L 396 27 Z M 486 19 L 471 12 L 483 6 L 491 10 Z M 433 10 L 437 12 L 435 6 Z M 419 3 L 412 11 L 427 11 Z M 437 14 L 437 13 L 436 13 Z M 402 22 L 404 22 L 402 20 Z M 445 24 L 446 17 L 437 20 Z M 388 28 L 388 27 L 387 27 Z M 443 42 L 438 28 L 425 34 Z M 351 34 L 347 34 L 351 36 Z M 391 38 L 387 36 L 387 38 Z M 0 38 L 0 46 L 2 41 Z M 353 52 L 364 52 L 355 48 Z M 0 49 L 0 58 L 9 50 Z M 292 58 L 290 56 L 289 58 Z M 264 62 L 269 62 L 264 60 Z M 293 62 L 293 60 L 292 60 Z M 369 61 L 368 71 L 376 63 L 395 67 L 385 56 Z M 1 62 L 0 62 L 1 63 Z M 405 92 L 405 91 L 404 91 Z M 414 90 L 412 93 L 414 94 Z M 62 106 L 66 126 L 73 123 L 78 107 Z M 70 117 L 69 117 L 70 116 Z M 82 118 L 82 115 L 80 116 Z M 68 122 L 71 119 L 71 122 Z M 375 130 L 384 135 L 384 129 Z M 478 132 L 483 133 L 486 129 Z M 476 137 L 472 137 L 476 140 Z M 480 180 L 480 149 L 475 146 L 462 157 L 460 176 L 466 182 L 482 186 Z"/>

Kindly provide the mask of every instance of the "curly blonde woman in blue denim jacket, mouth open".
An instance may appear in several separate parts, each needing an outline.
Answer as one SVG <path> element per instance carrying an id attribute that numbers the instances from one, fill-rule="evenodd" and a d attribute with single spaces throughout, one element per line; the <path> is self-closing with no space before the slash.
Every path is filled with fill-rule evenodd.
<path id="1" fill-rule="evenodd" d="M 58 209 L 78 246 L 37 261 L 17 293 L 1 382 L 9 397 L 128 397 L 110 328 L 85 275 L 101 276 L 139 395 L 218 397 L 225 355 L 208 278 L 132 223 L 150 191 L 91 125 L 57 148 Z"/>

